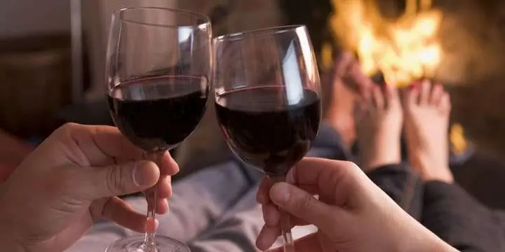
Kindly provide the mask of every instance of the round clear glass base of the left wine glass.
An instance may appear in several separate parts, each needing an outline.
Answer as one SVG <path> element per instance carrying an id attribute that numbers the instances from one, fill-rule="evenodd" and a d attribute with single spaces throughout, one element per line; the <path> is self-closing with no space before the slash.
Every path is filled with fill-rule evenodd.
<path id="1" fill-rule="evenodd" d="M 191 252 L 182 242 L 162 236 L 156 236 L 156 248 L 155 251 L 147 250 L 144 235 L 137 235 L 115 241 L 105 252 Z"/>

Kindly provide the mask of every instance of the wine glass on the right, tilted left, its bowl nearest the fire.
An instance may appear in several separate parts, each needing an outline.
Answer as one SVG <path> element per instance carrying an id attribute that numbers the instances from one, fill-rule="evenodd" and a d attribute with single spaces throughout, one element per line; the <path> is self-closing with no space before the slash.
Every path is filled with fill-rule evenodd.
<path id="1" fill-rule="evenodd" d="M 214 39 L 217 120 L 231 151 L 274 182 L 311 147 L 321 121 L 318 67 L 307 28 L 274 27 Z M 284 251 L 294 251 L 281 213 Z"/>

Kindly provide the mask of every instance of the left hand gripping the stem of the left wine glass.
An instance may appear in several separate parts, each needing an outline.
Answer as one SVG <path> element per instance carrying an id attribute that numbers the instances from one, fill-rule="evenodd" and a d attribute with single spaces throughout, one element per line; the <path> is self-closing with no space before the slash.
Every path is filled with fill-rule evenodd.
<path id="1" fill-rule="evenodd" d="M 116 127 L 60 127 L 0 183 L 0 251 L 65 251 L 102 218 L 145 232 L 145 216 L 118 196 L 178 172 L 169 153 L 160 161 L 144 160 Z M 166 211 L 170 184 L 159 190 Z"/>

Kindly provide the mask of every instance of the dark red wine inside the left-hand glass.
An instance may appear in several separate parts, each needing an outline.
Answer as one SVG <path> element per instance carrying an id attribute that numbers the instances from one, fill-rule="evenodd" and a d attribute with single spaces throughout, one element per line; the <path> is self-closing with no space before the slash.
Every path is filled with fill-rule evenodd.
<path id="1" fill-rule="evenodd" d="M 144 151 L 174 148 L 206 110 L 206 78 L 159 76 L 119 83 L 107 95 L 114 123 Z"/>

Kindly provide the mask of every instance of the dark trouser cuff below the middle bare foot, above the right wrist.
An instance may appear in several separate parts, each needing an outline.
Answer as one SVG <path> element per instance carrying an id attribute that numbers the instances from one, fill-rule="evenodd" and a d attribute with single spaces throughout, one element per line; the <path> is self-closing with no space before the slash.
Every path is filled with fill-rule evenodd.
<path id="1" fill-rule="evenodd" d="M 403 165 L 384 165 L 368 177 L 410 216 L 419 220 L 423 207 L 423 185 L 417 175 Z"/>

